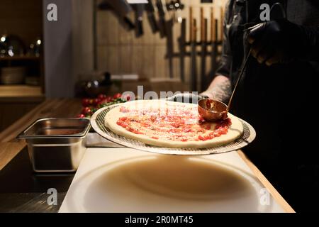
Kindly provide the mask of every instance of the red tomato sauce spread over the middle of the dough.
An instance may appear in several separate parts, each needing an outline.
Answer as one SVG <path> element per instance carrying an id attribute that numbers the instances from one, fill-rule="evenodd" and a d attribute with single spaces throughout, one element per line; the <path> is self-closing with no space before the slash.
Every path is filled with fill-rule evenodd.
<path id="1" fill-rule="evenodd" d="M 183 106 L 166 106 L 161 109 L 128 109 L 121 106 L 120 111 L 123 116 L 118 118 L 118 126 L 155 140 L 212 140 L 228 133 L 231 125 L 230 118 L 215 123 L 206 122 L 198 115 L 197 108 Z"/>

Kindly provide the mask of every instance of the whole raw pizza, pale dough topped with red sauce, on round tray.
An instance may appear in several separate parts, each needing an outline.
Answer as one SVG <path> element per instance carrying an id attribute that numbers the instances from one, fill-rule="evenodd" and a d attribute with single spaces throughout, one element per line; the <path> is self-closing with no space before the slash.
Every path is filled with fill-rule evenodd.
<path id="1" fill-rule="evenodd" d="M 164 100 L 129 101 L 105 116 L 105 125 L 118 135 L 142 143 L 169 148 L 212 148 L 233 142 L 242 135 L 240 120 L 205 122 L 196 104 Z M 230 123 L 231 122 L 231 123 Z"/>

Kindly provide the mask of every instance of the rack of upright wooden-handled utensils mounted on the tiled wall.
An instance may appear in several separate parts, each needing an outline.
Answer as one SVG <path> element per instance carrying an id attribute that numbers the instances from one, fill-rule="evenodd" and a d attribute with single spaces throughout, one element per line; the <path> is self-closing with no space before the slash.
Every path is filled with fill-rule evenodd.
<path id="1" fill-rule="evenodd" d="M 201 23 L 200 30 L 196 26 L 196 19 L 193 18 L 193 9 L 189 9 L 189 39 L 186 40 L 186 18 L 180 23 L 181 35 L 178 39 L 179 51 L 174 52 L 172 45 L 167 45 L 167 55 L 166 58 L 172 60 L 173 57 L 179 57 L 180 63 L 180 79 L 181 82 L 186 82 L 185 79 L 185 58 L 190 57 L 191 70 L 189 70 L 189 89 L 191 92 L 202 92 L 207 89 L 208 85 L 211 83 L 215 77 L 218 57 L 221 55 L 220 46 L 223 44 L 223 9 L 220 8 L 220 18 L 219 20 L 213 16 L 213 8 L 211 8 L 211 37 L 208 40 L 208 28 L 207 28 L 207 18 L 203 16 L 203 8 L 201 8 Z M 220 24 L 218 31 L 218 24 Z M 197 32 L 201 32 L 200 41 L 197 40 Z M 170 50 L 169 50 L 170 49 Z M 201 57 L 201 69 L 197 70 L 198 57 Z M 209 73 L 206 70 L 206 59 L 210 59 L 210 64 L 208 64 Z M 188 65 L 186 66 L 188 67 Z M 204 67 L 204 69 L 203 69 Z M 198 72 L 200 74 L 198 75 Z M 200 79 L 199 79 L 200 78 Z"/>

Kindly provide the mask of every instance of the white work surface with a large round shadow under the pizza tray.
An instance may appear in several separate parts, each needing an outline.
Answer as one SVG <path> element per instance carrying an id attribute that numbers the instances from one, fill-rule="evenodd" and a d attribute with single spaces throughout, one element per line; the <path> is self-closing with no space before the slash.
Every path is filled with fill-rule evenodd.
<path id="1" fill-rule="evenodd" d="M 60 212 L 284 212 L 267 192 L 236 152 L 88 148 Z"/>

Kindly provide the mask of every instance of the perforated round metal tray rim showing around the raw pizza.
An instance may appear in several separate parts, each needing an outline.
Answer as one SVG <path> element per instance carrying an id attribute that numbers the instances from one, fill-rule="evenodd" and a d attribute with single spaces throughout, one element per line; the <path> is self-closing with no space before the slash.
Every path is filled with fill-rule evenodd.
<path id="1" fill-rule="evenodd" d="M 239 118 L 242 126 L 244 128 L 244 132 L 242 133 L 240 138 L 233 141 L 232 143 L 228 143 L 226 145 L 221 145 L 213 148 L 162 148 L 156 147 L 153 145 L 147 145 L 145 143 L 139 142 L 138 140 L 133 140 L 130 138 L 125 138 L 121 135 L 117 135 L 113 133 L 108 127 L 104 125 L 104 118 L 108 111 L 113 109 L 114 107 L 121 104 L 114 104 L 112 106 L 107 106 L 96 111 L 93 116 L 91 116 L 91 126 L 94 128 L 96 133 L 103 136 L 108 140 L 111 140 L 113 143 L 118 143 L 128 148 L 134 148 L 137 150 L 143 150 L 151 153 L 160 153 L 166 155 L 215 155 L 220 153 L 227 153 L 233 150 L 239 150 L 244 148 L 249 143 L 252 143 L 254 138 L 256 137 L 256 131 L 254 128 L 250 126 L 249 123 L 243 121 Z"/>

